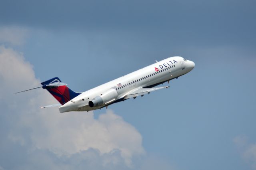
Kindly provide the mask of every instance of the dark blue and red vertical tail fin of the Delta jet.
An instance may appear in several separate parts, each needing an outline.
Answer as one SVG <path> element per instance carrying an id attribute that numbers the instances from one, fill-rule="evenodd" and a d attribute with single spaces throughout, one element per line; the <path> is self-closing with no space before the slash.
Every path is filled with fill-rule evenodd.
<path id="1" fill-rule="evenodd" d="M 44 81 L 41 85 L 43 85 L 43 89 L 48 90 L 62 105 L 81 94 L 69 89 L 66 86 L 67 84 L 62 83 L 58 77 Z"/>

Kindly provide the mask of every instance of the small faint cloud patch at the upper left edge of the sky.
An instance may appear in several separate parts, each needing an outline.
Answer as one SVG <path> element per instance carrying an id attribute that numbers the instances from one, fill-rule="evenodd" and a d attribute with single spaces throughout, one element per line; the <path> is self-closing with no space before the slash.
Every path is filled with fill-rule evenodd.
<path id="1" fill-rule="evenodd" d="M 0 43 L 10 43 L 11 45 L 22 45 L 28 36 L 28 30 L 21 27 L 1 27 Z"/>

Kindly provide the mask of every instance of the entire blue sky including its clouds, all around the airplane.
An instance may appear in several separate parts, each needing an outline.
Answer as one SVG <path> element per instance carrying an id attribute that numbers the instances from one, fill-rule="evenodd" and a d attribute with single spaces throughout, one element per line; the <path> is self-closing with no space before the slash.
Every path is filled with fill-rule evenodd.
<path id="1" fill-rule="evenodd" d="M 255 5 L 2 2 L 0 170 L 256 169 Z M 12 95 L 55 76 L 82 92 L 177 55 L 196 67 L 109 112 L 40 110 L 56 103 L 42 89 Z"/>

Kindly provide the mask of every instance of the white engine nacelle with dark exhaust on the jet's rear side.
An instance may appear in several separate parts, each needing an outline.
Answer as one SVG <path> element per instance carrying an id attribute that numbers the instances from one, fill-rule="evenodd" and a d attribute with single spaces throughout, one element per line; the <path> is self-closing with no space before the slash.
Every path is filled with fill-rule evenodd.
<path id="1" fill-rule="evenodd" d="M 90 107 L 98 107 L 110 103 L 111 101 L 116 100 L 117 91 L 115 89 L 109 89 L 105 91 L 102 95 L 94 97 L 89 101 Z"/>

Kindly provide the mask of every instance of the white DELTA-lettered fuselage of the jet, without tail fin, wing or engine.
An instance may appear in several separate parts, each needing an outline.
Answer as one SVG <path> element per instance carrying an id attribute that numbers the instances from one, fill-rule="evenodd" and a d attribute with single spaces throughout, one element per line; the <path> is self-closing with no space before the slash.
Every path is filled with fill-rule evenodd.
<path id="1" fill-rule="evenodd" d="M 186 60 L 182 57 L 169 57 L 130 74 L 109 81 L 108 83 L 85 91 L 59 107 L 60 113 L 67 111 L 91 111 L 100 109 L 118 101 L 123 101 L 124 97 L 130 91 L 137 89 L 138 87 L 154 87 L 158 84 L 188 73 L 194 68 L 194 66 L 195 64 L 193 61 Z M 101 106 L 89 106 L 89 101 L 97 96 L 104 96 L 104 93 L 108 93 L 107 91 L 110 89 L 115 90 L 112 90 L 112 93 L 116 93 L 114 99 L 108 101 L 108 103 L 104 103 Z"/>

